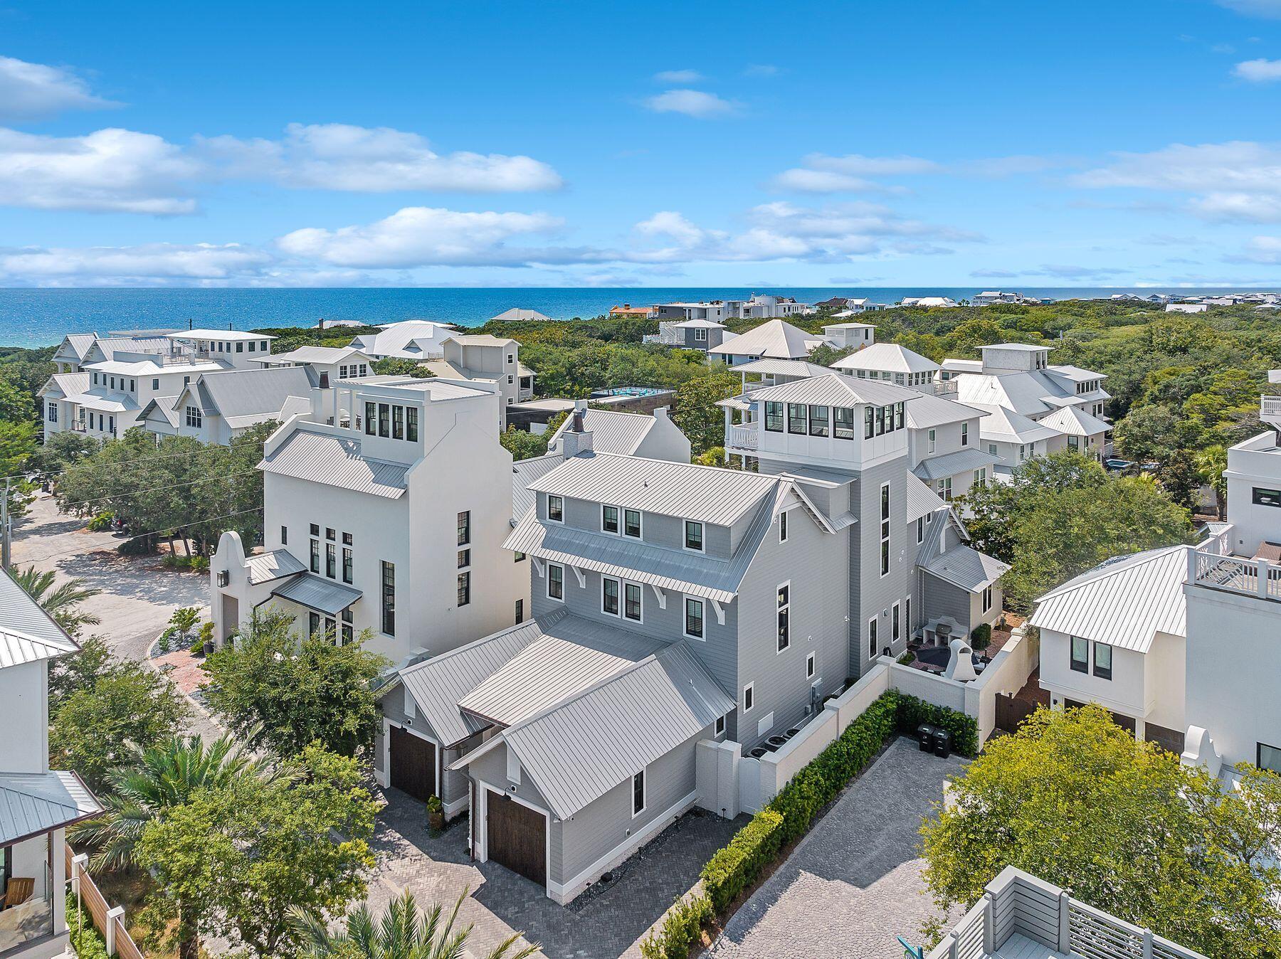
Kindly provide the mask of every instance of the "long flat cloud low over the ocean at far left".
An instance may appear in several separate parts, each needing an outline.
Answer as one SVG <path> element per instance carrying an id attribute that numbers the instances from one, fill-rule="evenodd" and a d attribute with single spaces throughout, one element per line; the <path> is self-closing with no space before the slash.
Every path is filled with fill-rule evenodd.
<path id="1" fill-rule="evenodd" d="M 36 286 L 232 280 L 270 261 L 269 254 L 240 243 L 8 250 L 0 251 L 0 277 Z"/>

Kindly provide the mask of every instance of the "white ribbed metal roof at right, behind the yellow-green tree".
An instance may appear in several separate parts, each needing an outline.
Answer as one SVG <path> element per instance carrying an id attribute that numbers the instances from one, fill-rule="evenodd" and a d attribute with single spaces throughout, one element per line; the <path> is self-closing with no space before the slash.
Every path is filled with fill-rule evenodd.
<path id="1" fill-rule="evenodd" d="M 1036 600 L 1029 622 L 1146 653 L 1157 633 L 1186 636 L 1187 551 L 1176 545 L 1108 560 Z"/>

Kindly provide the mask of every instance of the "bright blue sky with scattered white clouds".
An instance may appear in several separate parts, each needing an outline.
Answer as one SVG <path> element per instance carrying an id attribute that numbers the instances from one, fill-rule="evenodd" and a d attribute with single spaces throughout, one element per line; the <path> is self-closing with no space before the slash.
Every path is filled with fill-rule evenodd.
<path id="1" fill-rule="evenodd" d="M 1281 0 L 0 0 L 0 284 L 1278 286 L 1278 106 Z"/>

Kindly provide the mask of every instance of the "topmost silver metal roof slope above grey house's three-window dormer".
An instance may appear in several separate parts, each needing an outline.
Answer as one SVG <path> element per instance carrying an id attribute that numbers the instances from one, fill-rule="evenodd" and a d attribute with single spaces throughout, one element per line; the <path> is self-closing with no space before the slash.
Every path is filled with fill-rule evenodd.
<path id="1" fill-rule="evenodd" d="M 729 526 L 776 483 L 774 476 L 742 470 L 596 452 L 570 457 L 530 487 L 543 493 Z"/>

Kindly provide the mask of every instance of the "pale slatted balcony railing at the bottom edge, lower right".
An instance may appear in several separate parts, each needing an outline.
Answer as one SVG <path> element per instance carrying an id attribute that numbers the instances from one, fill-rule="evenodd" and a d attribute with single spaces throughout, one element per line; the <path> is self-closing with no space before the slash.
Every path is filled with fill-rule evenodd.
<path id="1" fill-rule="evenodd" d="M 1032 955 L 1032 944 L 1091 959 L 1205 959 L 1012 866 L 988 883 L 983 899 L 952 927 L 929 959 Z"/>

